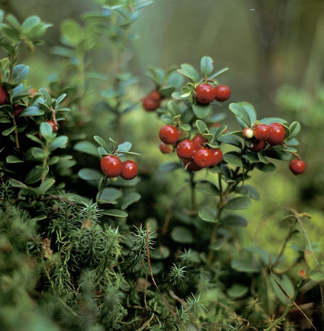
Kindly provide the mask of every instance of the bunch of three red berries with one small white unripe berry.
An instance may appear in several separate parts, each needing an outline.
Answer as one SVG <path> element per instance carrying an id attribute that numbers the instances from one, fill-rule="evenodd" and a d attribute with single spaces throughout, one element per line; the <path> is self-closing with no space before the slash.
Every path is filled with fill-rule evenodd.
<path id="1" fill-rule="evenodd" d="M 253 129 L 246 127 L 242 131 L 243 137 L 253 138 L 251 144 L 246 146 L 252 152 L 261 151 L 268 143 L 271 146 L 280 145 L 285 140 L 285 128 L 280 123 L 257 124 Z"/>

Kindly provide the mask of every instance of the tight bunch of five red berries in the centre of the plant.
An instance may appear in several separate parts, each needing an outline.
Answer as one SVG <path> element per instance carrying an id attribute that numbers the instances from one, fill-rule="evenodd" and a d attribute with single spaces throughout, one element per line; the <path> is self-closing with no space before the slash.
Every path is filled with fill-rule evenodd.
<path id="1" fill-rule="evenodd" d="M 183 160 L 187 169 L 198 171 L 209 166 L 216 166 L 223 159 L 223 153 L 219 148 L 204 148 L 207 140 L 198 134 L 192 140 L 185 139 L 177 146 L 177 155 Z"/>

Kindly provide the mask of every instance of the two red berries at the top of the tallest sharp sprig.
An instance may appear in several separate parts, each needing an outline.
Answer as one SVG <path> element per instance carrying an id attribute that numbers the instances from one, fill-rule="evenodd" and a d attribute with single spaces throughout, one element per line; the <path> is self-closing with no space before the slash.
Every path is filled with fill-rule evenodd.
<path id="1" fill-rule="evenodd" d="M 231 90 L 226 85 L 219 85 L 213 87 L 210 84 L 202 83 L 195 88 L 196 100 L 202 104 L 209 104 L 214 99 L 224 102 L 229 99 Z"/>

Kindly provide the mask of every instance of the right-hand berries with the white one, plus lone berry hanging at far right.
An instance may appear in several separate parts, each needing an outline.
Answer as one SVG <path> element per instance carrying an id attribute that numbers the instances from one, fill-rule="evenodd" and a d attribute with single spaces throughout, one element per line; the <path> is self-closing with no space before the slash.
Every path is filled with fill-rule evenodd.
<path id="1" fill-rule="evenodd" d="M 249 145 L 245 145 L 247 149 L 252 152 L 259 152 L 265 148 L 268 143 L 271 146 L 280 145 L 285 140 L 285 128 L 280 123 L 271 123 L 269 125 L 262 123 L 255 123 L 251 128 L 246 127 L 242 131 L 242 135 L 246 139 L 251 139 Z M 290 171 L 295 174 L 301 174 L 305 171 L 306 165 L 300 160 L 294 159 L 289 164 Z"/>

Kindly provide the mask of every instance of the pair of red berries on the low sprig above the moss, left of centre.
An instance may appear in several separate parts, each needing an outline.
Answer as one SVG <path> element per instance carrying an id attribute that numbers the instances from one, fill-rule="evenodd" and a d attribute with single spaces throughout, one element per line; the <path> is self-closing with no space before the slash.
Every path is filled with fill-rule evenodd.
<path id="1" fill-rule="evenodd" d="M 101 171 L 109 178 L 121 176 L 130 180 L 136 177 L 138 172 L 137 164 L 134 161 L 126 160 L 122 162 L 115 155 L 106 155 L 100 161 Z"/>

